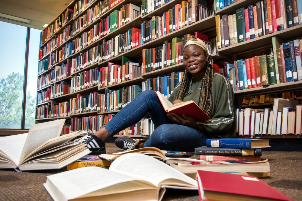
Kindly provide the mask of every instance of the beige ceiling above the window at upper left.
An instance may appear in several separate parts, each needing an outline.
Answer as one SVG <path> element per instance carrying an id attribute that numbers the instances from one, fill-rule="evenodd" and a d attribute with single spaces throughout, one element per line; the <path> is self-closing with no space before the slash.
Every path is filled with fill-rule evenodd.
<path id="1" fill-rule="evenodd" d="M 0 0 L 0 21 L 44 29 L 43 25 L 53 21 L 71 2 L 72 0 Z"/>

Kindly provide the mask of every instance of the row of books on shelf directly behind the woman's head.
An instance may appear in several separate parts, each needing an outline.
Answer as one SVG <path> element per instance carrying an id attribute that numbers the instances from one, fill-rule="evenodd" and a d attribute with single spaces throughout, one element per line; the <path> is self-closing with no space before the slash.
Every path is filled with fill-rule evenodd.
<path id="1" fill-rule="evenodd" d="M 185 34 L 182 38 L 172 38 L 172 41 L 166 40 L 164 44 L 150 49 L 143 49 L 143 73 L 162 69 L 167 66 L 183 62 L 182 49 L 185 43 L 192 39 L 199 38 L 204 41 L 210 51 L 213 50 L 213 43 L 209 43 L 205 34 L 195 32 L 194 35 Z"/>

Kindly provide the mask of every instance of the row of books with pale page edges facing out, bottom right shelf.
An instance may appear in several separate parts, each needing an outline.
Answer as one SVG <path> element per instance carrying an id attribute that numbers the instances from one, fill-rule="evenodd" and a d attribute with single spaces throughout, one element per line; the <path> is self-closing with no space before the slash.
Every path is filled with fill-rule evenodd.
<path id="1" fill-rule="evenodd" d="M 301 135 L 299 101 L 275 98 L 273 109 L 237 109 L 238 134 Z"/>

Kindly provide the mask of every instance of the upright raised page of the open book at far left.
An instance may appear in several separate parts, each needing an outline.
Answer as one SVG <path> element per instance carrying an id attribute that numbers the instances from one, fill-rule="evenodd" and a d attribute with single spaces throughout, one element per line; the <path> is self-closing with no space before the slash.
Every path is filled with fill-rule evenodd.
<path id="1" fill-rule="evenodd" d="M 31 125 L 20 161 L 49 139 L 58 137 L 64 126 L 65 119 Z"/>

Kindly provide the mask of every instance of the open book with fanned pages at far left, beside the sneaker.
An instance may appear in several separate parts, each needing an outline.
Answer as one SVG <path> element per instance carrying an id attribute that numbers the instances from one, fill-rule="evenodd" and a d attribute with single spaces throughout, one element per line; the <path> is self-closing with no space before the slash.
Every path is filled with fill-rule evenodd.
<path id="1" fill-rule="evenodd" d="M 65 119 L 31 125 L 28 133 L 0 138 L 0 168 L 59 169 L 89 154 L 86 143 L 69 142 L 81 132 L 60 136 Z"/>

